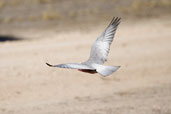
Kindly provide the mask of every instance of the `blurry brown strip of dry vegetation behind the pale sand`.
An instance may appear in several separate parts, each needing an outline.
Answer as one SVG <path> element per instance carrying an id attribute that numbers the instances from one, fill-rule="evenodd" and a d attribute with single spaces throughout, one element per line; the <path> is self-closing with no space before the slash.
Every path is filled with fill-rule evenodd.
<path id="1" fill-rule="evenodd" d="M 170 11 L 170 0 L 0 0 L 0 24 L 51 23 L 54 26 L 54 23 L 66 21 L 104 21 L 113 15 L 124 18 L 161 16 Z"/>

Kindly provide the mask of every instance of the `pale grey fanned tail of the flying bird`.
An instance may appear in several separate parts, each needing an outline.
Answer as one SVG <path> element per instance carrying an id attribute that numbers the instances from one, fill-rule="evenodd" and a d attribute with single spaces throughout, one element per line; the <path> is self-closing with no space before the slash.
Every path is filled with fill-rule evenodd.
<path id="1" fill-rule="evenodd" d="M 104 77 L 109 76 L 120 68 L 120 66 L 104 66 L 99 64 L 95 64 L 93 67 L 96 68 L 96 71 Z"/>

